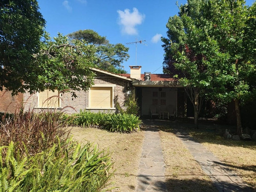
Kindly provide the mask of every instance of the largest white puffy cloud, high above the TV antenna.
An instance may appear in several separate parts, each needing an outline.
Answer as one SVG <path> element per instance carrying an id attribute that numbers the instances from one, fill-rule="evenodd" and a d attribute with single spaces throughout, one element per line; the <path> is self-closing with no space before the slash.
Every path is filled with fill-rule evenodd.
<path id="1" fill-rule="evenodd" d="M 141 14 L 136 8 L 133 8 L 133 12 L 130 12 L 130 9 L 117 10 L 117 12 L 119 14 L 118 23 L 122 26 L 122 32 L 129 35 L 137 35 L 138 31 L 135 27 L 142 24 L 145 15 Z"/>

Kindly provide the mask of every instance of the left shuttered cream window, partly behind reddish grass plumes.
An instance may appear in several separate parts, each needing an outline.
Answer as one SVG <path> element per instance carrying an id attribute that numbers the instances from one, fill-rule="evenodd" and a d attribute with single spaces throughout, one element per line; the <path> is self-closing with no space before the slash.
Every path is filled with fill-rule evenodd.
<path id="1" fill-rule="evenodd" d="M 60 99 L 58 90 L 50 91 L 45 90 L 37 94 L 37 107 L 38 108 L 59 108 Z"/>

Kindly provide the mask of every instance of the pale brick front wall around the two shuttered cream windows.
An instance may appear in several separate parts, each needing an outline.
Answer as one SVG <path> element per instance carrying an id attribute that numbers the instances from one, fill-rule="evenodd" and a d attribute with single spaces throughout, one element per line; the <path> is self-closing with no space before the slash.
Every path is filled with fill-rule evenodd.
<path id="1" fill-rule="evenodd" d="M 122 108 L 124 108 L 124 101 L 127 98 L 127 83 L 129 81 L 113 77 L 111 75 L 103 74 L 100 72 L 96 73 L 94 84 L 115 84 L 114 87 L 114 104 L 118 102 Z M 89 107 L 89 92 L 76 91 L 77 98 L 71 97 L 69 92 L 60 94 L 60 106 L 58 110 L 64 110 L 67 113 L 77 113 L 80 110 L 86 110 Z M 24 108 L 25 110 L 33 109 L 35 111 L 41 111 L 42 109 L 37 108 L 37 97 L 36 94 L 30 95 L 29 93 L 24 94 Z M 105 111 L 115 113 L 116 109 L 113 110 L 90 110 L 92 112 Z"/>

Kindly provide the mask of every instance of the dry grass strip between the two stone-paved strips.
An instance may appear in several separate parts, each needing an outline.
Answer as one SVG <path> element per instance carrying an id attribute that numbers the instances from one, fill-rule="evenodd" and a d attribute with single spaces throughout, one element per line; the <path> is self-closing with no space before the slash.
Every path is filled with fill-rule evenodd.
<path id="1" fill-rule="evenodd" d="M 159 132 L 166 165 L 169 191 L 217 191 L 201 166 L 174 133 Z"/>

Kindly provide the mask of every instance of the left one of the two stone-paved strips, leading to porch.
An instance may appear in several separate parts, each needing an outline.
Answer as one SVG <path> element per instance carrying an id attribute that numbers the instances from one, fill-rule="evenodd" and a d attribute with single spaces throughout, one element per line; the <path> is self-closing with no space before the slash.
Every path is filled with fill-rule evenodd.
<path id="1" fill-rule="evenodd" d="M 145 132 L 139 168 L 137 191 L 167 191 L 161 141 L 156 131 Z"/>

